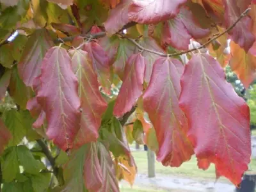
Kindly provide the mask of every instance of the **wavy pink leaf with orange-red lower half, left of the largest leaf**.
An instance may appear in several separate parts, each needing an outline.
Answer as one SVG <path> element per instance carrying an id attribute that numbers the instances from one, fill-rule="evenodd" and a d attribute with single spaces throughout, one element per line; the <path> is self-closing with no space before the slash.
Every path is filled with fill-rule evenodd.
<path id="1" fill-rule="evenodd" d="M 159 58 L 143 94 L 143 106 L 156 130 L 157 160 L 164 166 L 180 166 L 191 158 L 193 147 L 186 133 L 188 122 L 179 108 L 180 76 L 184 66 L 179 60 Z"/>

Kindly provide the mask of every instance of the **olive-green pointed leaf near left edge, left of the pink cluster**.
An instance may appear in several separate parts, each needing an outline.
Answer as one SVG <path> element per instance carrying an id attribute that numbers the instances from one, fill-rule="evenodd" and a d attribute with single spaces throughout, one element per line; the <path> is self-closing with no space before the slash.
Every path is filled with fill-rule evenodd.
<path id="1" fill-rule="evenodd" d="M 17 66 L 12 68 L 12 76 L 10 81 L 10 96 L 13 98 L 15 103 L 20 106 L 20 109 L 26 109 L 26 104 L 29 98 L 32 97 L 33 92 L 31 88 L 26 87 L 23 81 L 20 79 Z"/>

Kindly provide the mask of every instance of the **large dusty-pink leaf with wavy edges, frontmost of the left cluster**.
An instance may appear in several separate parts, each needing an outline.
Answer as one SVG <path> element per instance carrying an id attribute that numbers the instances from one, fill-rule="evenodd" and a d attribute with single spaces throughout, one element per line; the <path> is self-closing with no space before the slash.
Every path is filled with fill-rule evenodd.
<path id="1" fill-rule="evenodd" d="M 42 61 L 41 87 L 36 99 L 45 111 L 47 136 L 63 150 L 72 148 L 81 118 L 78 82 L 68 52 L 52 47 Z"/>

